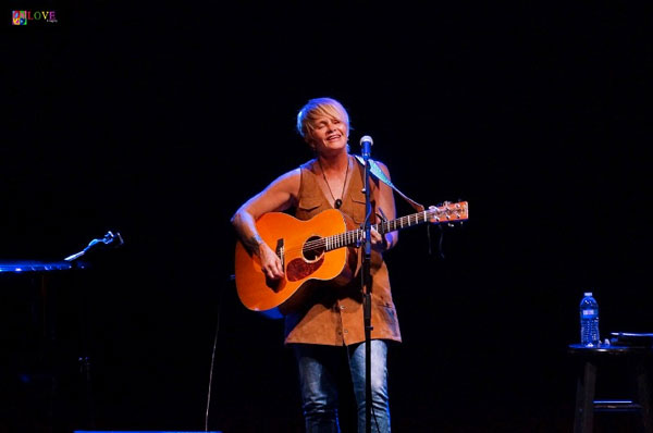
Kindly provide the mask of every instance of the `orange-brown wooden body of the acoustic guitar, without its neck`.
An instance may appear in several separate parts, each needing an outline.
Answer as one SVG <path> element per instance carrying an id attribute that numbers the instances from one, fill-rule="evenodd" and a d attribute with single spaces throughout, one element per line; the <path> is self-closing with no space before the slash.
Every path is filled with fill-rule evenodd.
<path id="1" fill-rule="evenodd" d="M 282 258 L 284 277 L 271 281 L 261 271 L 260 260 L 244 245 L 236 244 L 235 275 L 238 297 L 245 307 L 273 319 L 298 308 L 310 296 L 313 283 L 334 280 L 346 284 L 356 269 L 353 248 L 307 248 L 319 239 L 345 233 L 354 222 L 336 209 L 329 209 L 308 221 L 287 213 L 262 215 L 256 227 L 262 240 Z"/>

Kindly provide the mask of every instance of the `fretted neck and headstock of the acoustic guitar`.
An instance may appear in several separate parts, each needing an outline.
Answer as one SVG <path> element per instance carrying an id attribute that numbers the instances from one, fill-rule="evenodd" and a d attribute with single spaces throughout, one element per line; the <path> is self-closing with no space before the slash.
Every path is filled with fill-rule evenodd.
<path id="1" fill-rule="evenodd" d="M 412 213 L 396 220 L 383 221 L 378 224 L 372 224 L 380 234 L 384 235 L 390 232 L 396 232 L 402 228 L 412 227 L 426 222 L 443 223 L 467 220 L 467 201 L 445 205 L 440 208 L 427 209 L 422 212 Z M 323 247 L 326 251 L 360 245 L 365 239 L 365 230 L 356 228 L 345 233 L 325 237 Z"/>

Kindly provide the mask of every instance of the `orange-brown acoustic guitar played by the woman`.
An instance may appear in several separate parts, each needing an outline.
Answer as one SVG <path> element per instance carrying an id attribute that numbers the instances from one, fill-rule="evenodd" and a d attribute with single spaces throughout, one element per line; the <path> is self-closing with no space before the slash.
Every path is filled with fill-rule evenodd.
<path id="1" fill-rule="evenodd" d="M 444 203 L 422 212 L 373 224 L 380 234 L 426 222 L 453 223 L 468 219 L 467 201 Z M 236 244 L 236 289 L 243 305 L 272 319 L 298 308 L 309 295 L 311 283 L 346 284 L 354 277 L 356 255 L 352 248 L 365 239 L 365 230 L 336 209 L 301 221 L 283 212 L 270 212 L 256 222 L 261 239 L 276 252 L 284 277 L 267 279 L 258 256 Z"/>

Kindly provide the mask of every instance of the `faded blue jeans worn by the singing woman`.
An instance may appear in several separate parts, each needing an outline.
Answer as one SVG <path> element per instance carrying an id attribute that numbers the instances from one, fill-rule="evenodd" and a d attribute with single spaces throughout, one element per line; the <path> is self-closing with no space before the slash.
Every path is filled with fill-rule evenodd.
<path id="1" fill-rule="evenodd" d="M 347 357 L 358 415 L 358 432 L 365 432 L 365 343 L 353 346 L 295 345 L 306 433 L 340 432 L 337 422 L 337 374 Z M 387 345 L 372 339 L 371 345 L 372 421 L 371 431 L 390 433 L 387 399 Z"/>

